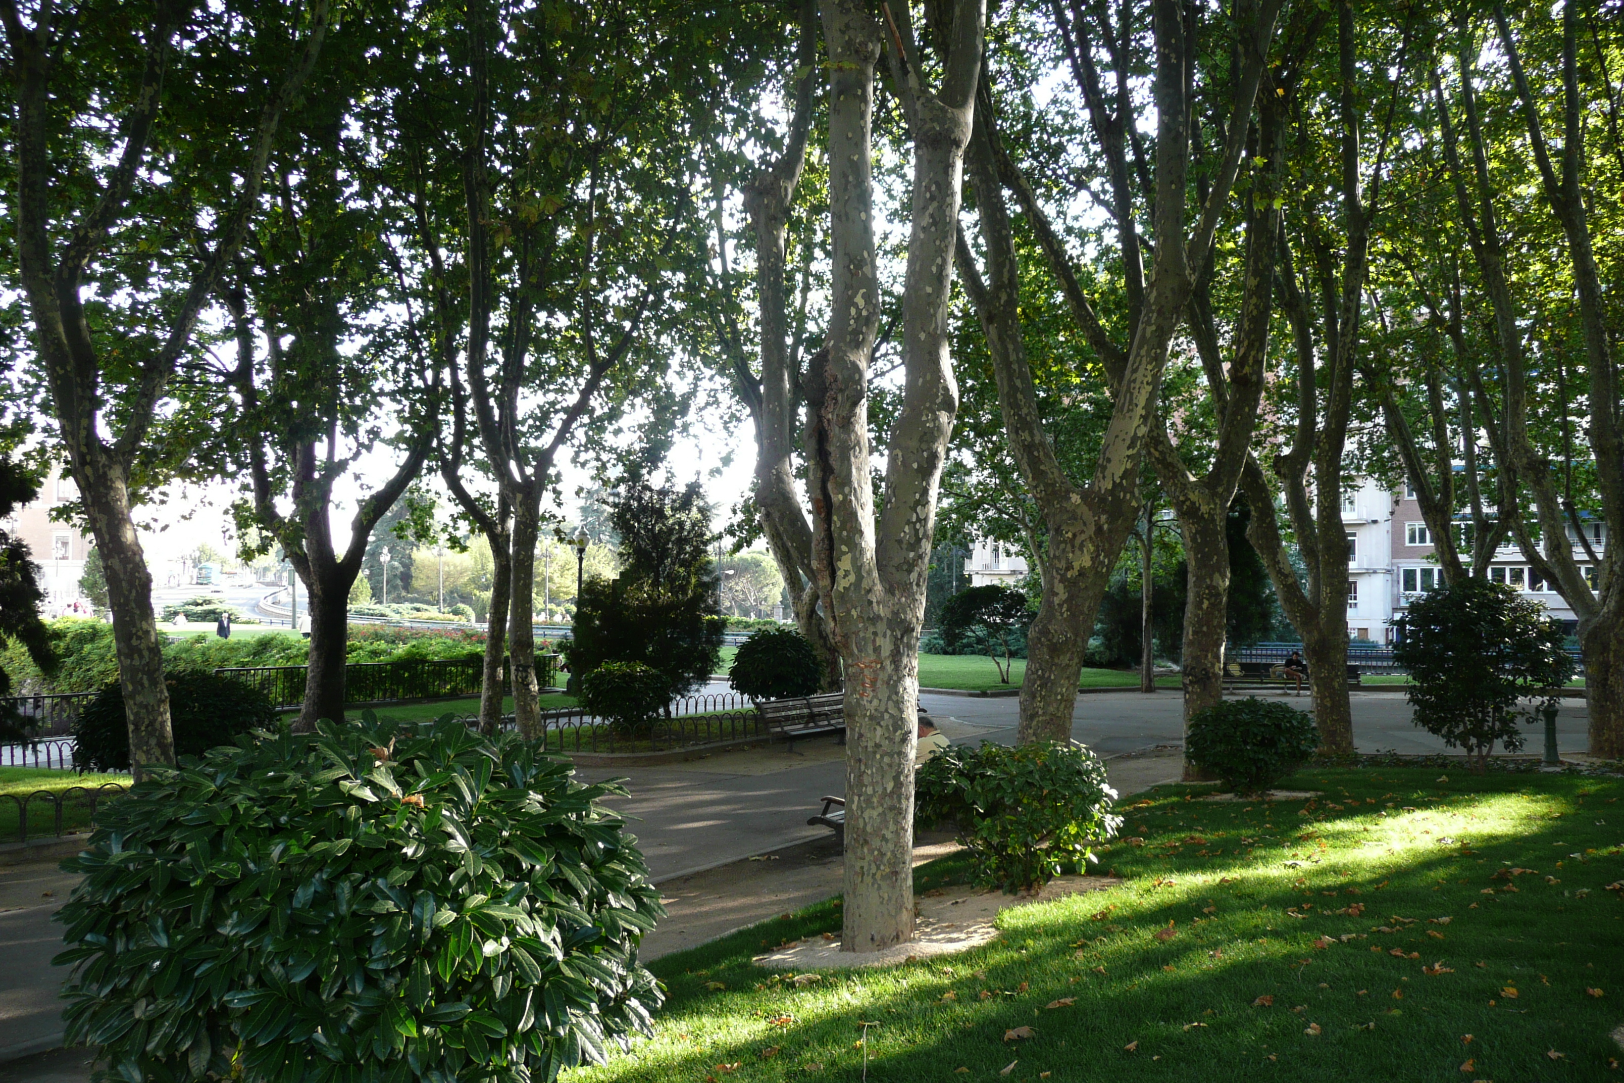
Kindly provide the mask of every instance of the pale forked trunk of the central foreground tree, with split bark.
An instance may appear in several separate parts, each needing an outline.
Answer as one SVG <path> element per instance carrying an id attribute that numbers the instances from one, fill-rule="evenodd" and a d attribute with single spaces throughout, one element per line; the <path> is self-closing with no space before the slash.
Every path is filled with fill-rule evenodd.
<path id="1" fill-rule="evenodd" d="M 958 386 L 948 357 L 953 247 L 965 145 L 981 67 L 981 0 L 944 18 L 937 94 L 921 86 L 908 8 L 893 76 L 913 135 L 908 270 L 903 281 L 903 395 L 888 438 L 875 515 L 869 460 L 869 360 L 879 330 L 870 122 L 880 26 L 862 0 L 823 0 L 828 47 L 828 346 L 807 377 L 812 568 L 844 661 L 844 951 L 906 943 L 913 913 L 913 765 L 919 625 Z M 906 37 L 903 37 L 906 36 Z M 905 41 L 908 42 L 905 45 Z"/>

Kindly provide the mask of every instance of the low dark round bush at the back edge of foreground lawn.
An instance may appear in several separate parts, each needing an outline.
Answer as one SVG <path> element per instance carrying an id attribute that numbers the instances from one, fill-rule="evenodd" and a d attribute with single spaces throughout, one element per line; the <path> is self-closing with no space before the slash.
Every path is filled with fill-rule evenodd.
<path id="1" fill-rule="evenodd" d="M 1285 703 L 1224 700 L 1190 719 L 1189 757 L 1237 794 L 1260 794 L 1319 749 L 1314 718 Z"/>

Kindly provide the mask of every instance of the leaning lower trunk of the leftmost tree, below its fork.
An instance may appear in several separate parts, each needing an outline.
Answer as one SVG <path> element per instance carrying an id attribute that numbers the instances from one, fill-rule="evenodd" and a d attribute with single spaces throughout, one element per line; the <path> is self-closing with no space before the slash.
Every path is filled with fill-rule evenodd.
<path id="1" fill-rule="evenodd" d="M 130 768 L 140 781 L 148 766 L 175 762 L 164 653 L 153 615 L 153 575 L 130 520 L 130 494 L 122 472 L 75 471 L 75 481 L 107 572 L 112 640 L 130 731 Z"/>

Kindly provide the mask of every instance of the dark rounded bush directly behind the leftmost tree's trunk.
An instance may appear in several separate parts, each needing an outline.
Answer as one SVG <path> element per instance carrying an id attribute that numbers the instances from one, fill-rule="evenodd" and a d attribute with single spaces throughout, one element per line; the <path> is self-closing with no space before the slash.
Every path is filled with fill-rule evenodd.
<path id="1" fill-rule="evenodd" d="M 276 710 L 258 688 L 211 672 L 180 671 L 164 675 L 169 687 L 169 729 L 177 757 L 203 755 L 231 744 L 250 729 L 276 724 Z M 73 723 L 73 766 L 81 771 L 130 770 L 130 723 L 123 713 L 123 687 L 102 685 Z"/>

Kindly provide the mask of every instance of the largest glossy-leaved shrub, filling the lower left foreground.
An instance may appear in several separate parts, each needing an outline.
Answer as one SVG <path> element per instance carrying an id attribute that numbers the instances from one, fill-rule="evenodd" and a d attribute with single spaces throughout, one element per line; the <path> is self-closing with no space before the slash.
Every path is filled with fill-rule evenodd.
<path id="1" fill-rule="evenodd" d="M 125 1080 L 552 1080 L 643 1031 L 625 823 L 513 734 L 323 723 L 158 768 L 63 867 L 70 1042 Z"/>

